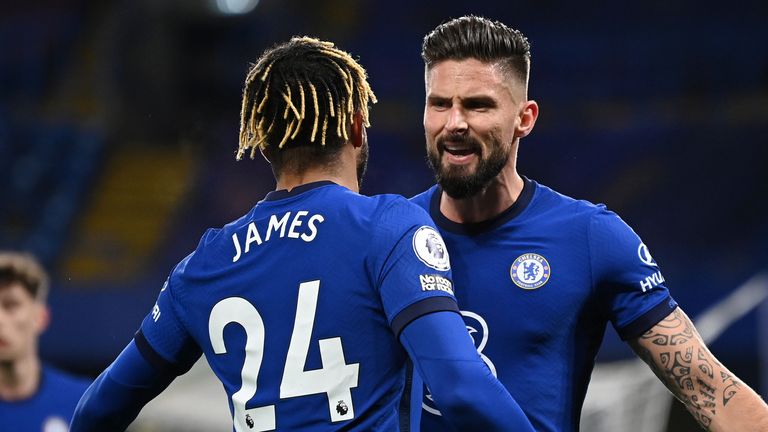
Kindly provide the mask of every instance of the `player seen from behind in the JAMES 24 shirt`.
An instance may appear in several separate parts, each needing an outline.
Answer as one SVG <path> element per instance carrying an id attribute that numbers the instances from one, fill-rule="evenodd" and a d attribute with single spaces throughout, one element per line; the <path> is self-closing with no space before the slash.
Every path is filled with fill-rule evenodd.
<path id="1" fill-rule="evenodd" d="M 408 357 L 451 427 L 533 430 L 467 337 L 429 216 L 358 193 L 372 102 L 365 70 L 330 42 L 293 38 L 261 56 L 238 156 L 261 151 L 276 190 L 176 266 L 72 432 L 124 430 L 201 354 L 236 431 L 406 429 Z"/>

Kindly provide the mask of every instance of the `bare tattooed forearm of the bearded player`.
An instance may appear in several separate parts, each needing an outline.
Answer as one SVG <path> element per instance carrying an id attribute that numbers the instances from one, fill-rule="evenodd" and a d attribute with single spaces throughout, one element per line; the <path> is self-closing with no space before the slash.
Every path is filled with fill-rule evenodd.
<path id="1" fill-rule="evenodd" d="M 629 344 L 705 430 L 768 430 L 768 406 L 717 361 L 680 308 Z"/>

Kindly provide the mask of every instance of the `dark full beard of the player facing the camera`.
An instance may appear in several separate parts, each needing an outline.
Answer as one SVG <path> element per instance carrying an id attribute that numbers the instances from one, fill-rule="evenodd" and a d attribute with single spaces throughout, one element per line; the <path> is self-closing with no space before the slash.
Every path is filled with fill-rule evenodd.
<path id="1" fill-rule="evenodd" d="M 493 138 L 492 138 L 493 139 Z M 445 141 L 467 144 L 479 154 L 477 167 L 445 166 L 442 155 L 445 152 Z M 441 188 L 454 199 L 469 198 L 485 189 L 499 175 L 509 160 L 509 152 L 496 139 L 492 141 L 490 154 L 483 157 L 480 143 L 469 135 L 444 136 L 437 139 L 435 149 L 427 147 L 427 161 L 435 173 L 435 180 Z"/>

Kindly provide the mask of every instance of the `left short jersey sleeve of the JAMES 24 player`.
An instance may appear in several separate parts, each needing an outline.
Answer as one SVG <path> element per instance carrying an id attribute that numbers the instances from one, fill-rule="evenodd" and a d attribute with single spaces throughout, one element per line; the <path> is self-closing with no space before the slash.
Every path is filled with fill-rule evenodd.
<path id="1" fill-rule="evenodd" d="M 134 337 L 136 347 L 149 363 L 175 375 L 187 372 L 202 354 L 182 322 L 183 308 L 174 296 L 174 291 L 180 289 L 178 273 L 183 267 L 184 261 L 163 284 L 157 302 Z"/>

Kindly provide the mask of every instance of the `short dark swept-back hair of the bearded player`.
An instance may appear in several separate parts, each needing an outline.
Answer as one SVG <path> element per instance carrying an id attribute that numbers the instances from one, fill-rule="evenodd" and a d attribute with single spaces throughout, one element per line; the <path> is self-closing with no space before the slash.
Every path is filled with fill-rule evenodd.
<path id="1" fill-rule="evenodd" d="M 502 22 L 467 15 L 444 22 L 427 34 L 421 58 L 428 69 L 444 60 L 500 62 L 527 83 L 531 44 L 519 30 Z"/>

